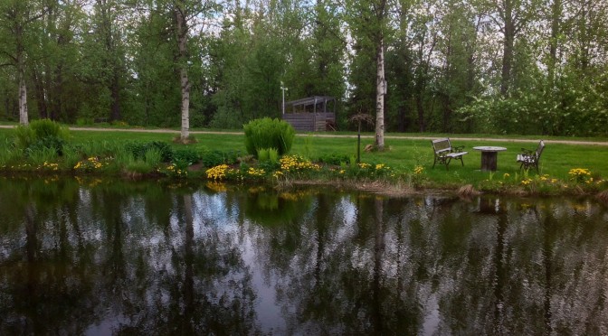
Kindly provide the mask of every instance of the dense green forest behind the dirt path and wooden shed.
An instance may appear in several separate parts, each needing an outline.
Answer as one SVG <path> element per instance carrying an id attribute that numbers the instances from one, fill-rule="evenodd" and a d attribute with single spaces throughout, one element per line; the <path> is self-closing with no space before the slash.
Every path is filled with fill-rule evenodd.
<path id="1" fill-rule="evenodd" d="M 389 132 L 605 136 L 607 18 L 607 0 L 0 0 L 0 119 L 174 127 L 185 106 L 242 128 L 284 93 L 337 98 L 348 130 L 381 83 Z"/>

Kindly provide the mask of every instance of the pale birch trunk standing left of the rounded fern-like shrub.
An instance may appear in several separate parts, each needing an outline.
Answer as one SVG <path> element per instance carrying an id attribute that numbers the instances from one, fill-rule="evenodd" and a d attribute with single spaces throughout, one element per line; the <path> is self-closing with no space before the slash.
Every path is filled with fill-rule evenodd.
<path id="1" fill-rule="evenodd" d="M 175 11 L 177 25 L 177 48 L 179 51 L 179 79 L 182 91 L 182 131 L 180 138 L 182 141 L 185 141 L 190 132 L 190 81 L 188 80 L 188 60 L 186 49 L 188 27 L 183 4 L 181 2 L 177 3 Z"/>

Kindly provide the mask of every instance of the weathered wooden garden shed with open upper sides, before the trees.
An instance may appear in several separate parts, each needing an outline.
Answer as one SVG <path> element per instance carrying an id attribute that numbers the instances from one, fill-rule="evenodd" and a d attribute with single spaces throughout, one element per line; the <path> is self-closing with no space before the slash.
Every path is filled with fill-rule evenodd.
<path id="1" fill-rule="evenodd" d="M 313 96 L 291 100 L 283 108 L 283 120 L 296 131 L 321 132 L 336 129 L 336 98 Z"/>

